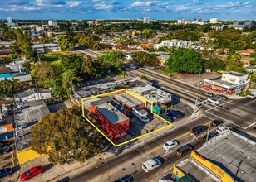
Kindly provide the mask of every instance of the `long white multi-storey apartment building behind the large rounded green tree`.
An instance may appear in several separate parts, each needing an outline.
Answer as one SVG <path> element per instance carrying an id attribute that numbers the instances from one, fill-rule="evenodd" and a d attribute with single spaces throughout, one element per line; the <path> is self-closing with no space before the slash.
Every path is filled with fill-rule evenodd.
<path id="1" fill-rule="evenodd" d="M 160 44 L 155 44 L 154 49 L 159 49 L 160 47 L 168 47 L 168 48 L 190 48 L 194 45 L 193 41 L 183 41 L 179 39 L 165 40 Z"/>

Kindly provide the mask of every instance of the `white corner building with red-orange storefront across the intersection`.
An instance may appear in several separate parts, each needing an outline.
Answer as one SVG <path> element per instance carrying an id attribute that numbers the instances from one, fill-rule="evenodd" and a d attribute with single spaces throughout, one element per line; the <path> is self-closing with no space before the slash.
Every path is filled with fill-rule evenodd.
<path id="1" fill-rule="evenodd" d="M 248 74 L 230 71 L 215 79 L 204 79 L 204 88 L 221 93 L 232 94 L 243 90 L 248 83 Z"/>

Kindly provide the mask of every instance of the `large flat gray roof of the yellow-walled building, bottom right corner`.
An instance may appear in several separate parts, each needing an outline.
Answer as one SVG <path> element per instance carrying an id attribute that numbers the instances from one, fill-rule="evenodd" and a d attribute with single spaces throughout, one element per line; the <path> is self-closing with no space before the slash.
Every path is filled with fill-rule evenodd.
<path id="1" fill-rule="evenodd" d="M 216 136 L 199 154 L 212 160 L 237 181 L 256 181 L 256 140 L 237 132 Z"/>

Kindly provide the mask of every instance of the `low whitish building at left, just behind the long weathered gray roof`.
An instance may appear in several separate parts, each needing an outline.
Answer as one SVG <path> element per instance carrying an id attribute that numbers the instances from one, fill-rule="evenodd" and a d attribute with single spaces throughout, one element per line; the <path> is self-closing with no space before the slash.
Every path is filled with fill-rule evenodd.
<path id="1" fill-rule="evenodd" d="M 14 94 L 15 103 L 26 103 L 49 98 L 52 98 L 52 91 L 50 89 L 28 89 L 21 93 Z"/>

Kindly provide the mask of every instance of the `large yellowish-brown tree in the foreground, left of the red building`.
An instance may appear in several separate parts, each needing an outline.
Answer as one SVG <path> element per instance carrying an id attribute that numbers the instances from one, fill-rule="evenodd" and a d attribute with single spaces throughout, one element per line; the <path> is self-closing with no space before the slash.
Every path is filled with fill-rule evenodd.
<path id="1" fill-rule="evenodd" d="M 32 127 L 32 149 L 54 163 L 73 158 L 83 162 L 98 155 L 108 142 L 82 117 L 78 107 L 49 113 Z"/>

